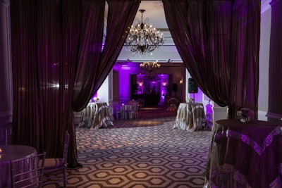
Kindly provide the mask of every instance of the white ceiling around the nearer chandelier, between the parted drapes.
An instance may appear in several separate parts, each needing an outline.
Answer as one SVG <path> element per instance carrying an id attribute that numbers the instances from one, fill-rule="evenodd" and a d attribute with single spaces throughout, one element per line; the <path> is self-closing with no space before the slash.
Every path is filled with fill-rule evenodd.
<path id="1" fill-rule="evenodd" d="M 171 34 L 168 30 L 166 18 L 164 15 L 164 6 L 162 1 L 141 1 L 139 9 L 135 17 L 141 19 L 140 9 L 144 9 L 143 20 L 149 18 L 149 23 L 157 27 L 164 34 L 164 45 L 159 46 L 152 51 L 152 55 L 148 54 L 132 54 L 123 46 L 121 54 L 118 56 L 118 62 L 143 62 L 157 61 L 159 63 L 179 63 L 182 62 L 176 46 L 173 42 Z"/>

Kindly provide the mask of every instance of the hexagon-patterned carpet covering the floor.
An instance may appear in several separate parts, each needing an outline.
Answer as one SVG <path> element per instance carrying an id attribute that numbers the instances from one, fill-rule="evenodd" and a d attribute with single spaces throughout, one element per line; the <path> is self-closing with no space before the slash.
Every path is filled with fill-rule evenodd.
<path id="1" fill-rule="evenodd" d="M 83 166 L 68 168 L 68 187 L 203 187 L 212 134 L 173 129 L 175 115 L 142 109 L 138 120 L 118 120 L 112 128 L 77 127 Z"/>

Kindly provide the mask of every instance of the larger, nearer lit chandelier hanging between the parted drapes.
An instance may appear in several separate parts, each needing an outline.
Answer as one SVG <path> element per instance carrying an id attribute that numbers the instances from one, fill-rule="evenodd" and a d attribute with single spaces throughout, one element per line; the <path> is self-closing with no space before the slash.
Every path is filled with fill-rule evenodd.
<path id="1" fill-rule="evenodd" d="M 141 23 L 138 18 L 135 18 L 135 25 L 131 25 L 128 37 L 125 39 L 126 49 L 132 51 L 133 54 L 150 53 L 157 46 L 164 44 L 163 34 L 156 27 L 147 24 L 149 18 L 146 18 L 143 23 L 145 10 L 139 11 L 141 12 Z"/>

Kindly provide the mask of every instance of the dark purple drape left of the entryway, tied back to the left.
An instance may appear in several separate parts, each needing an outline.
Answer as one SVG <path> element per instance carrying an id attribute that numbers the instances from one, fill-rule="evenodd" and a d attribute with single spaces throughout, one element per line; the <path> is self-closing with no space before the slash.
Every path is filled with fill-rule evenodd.
<path id="1" fill-rule="evenodd" d="M 115 48 L 105 44 L 102 52 L 105 3 L 11 1 L 13 144 L 59 157 L 68 130 L 68 163 L 77 165 L 72 110 L 86 106 L 111 70 L 140 1 L 109 1 L 108 25 L 123 22 L 106 35 L 106 41 L 118 40 Z"/>

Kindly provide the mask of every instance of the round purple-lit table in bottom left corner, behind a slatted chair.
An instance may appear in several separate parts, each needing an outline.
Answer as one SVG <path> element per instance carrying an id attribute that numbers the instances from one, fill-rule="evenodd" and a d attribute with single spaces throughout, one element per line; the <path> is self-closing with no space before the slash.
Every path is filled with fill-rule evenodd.
<path id="1" fill-rule="evenodd" d="M 11 161 L 36 156 L 37 151 L 32 146 L 24 145 L 2 145 L 0 149 L 0 187 L 12 187 Z"/>

